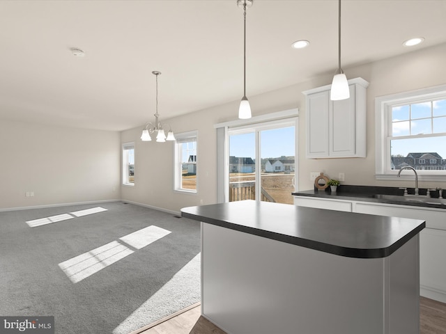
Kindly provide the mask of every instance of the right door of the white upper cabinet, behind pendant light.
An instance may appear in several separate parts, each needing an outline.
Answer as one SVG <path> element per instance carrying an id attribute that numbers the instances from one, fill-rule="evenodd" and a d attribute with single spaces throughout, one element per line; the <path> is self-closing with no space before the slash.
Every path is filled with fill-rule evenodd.
<path id="1" fill-rule="evenodd" d="M 355 85 L 349 88 L 349 99 L 330 100 L 330 157 L 354 157 L 356 153 Z"/>

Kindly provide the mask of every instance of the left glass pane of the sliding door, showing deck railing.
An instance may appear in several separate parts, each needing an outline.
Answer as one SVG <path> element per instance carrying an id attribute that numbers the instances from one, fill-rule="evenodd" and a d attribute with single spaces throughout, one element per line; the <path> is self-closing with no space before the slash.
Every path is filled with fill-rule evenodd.
<path id="1" fill-rule="evenodd" d="M 255 157 L 254 132 L 229 136 L 229 202 L 256 199 Z"/>

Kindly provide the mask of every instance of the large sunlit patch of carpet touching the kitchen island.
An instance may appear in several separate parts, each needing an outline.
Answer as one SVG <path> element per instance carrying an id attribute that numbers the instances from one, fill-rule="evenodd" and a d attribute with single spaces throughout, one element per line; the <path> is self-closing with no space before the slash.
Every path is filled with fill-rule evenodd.
<path id="1" fill-rule="evenodd" d="M 180 269 L 155 294 L 135 310 L 113 334 L 128 334 L 187 308 L 201 299 L 201 253 Z"/>

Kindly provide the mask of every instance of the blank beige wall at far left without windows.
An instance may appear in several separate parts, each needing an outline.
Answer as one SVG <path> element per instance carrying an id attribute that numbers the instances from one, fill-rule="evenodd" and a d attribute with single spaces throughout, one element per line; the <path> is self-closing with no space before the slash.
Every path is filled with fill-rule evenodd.
<path id="1" fill-rule="evenodd" d="M 121 198 L 120 147 L 119 132 L 1 120 L 0 209 Z"/>

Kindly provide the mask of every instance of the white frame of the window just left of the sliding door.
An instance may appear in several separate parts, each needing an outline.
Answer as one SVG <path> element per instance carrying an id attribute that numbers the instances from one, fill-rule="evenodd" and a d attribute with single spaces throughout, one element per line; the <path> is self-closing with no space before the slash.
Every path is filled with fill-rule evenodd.
<path id="1" fill-rule="evenodd" d="M 186 141 L 187 139 L 194 139 L 190 141 Z M 183 150 L 181 148 L 181 145 L 183 143 L 195 141 L 195 176 L 196 176 L 196 187 L 195 189 L 185 189 L 182 188 L 182 174 L 183 174 L 183 168 L 182 168 L 182 154 Z M 178 193 L 190 193 L 190 194 L 198 194 L 198 184 L 199 184 L 199 166 L 197 164 L 198 161 L 198 155 L 199 155 L 199 148 L 198 148 L 198 130 L 189 131 L 189 132 L 182 132 L 180 134 L 175 134 L 175 149 L 174 149 L 174 191 Z"/>

